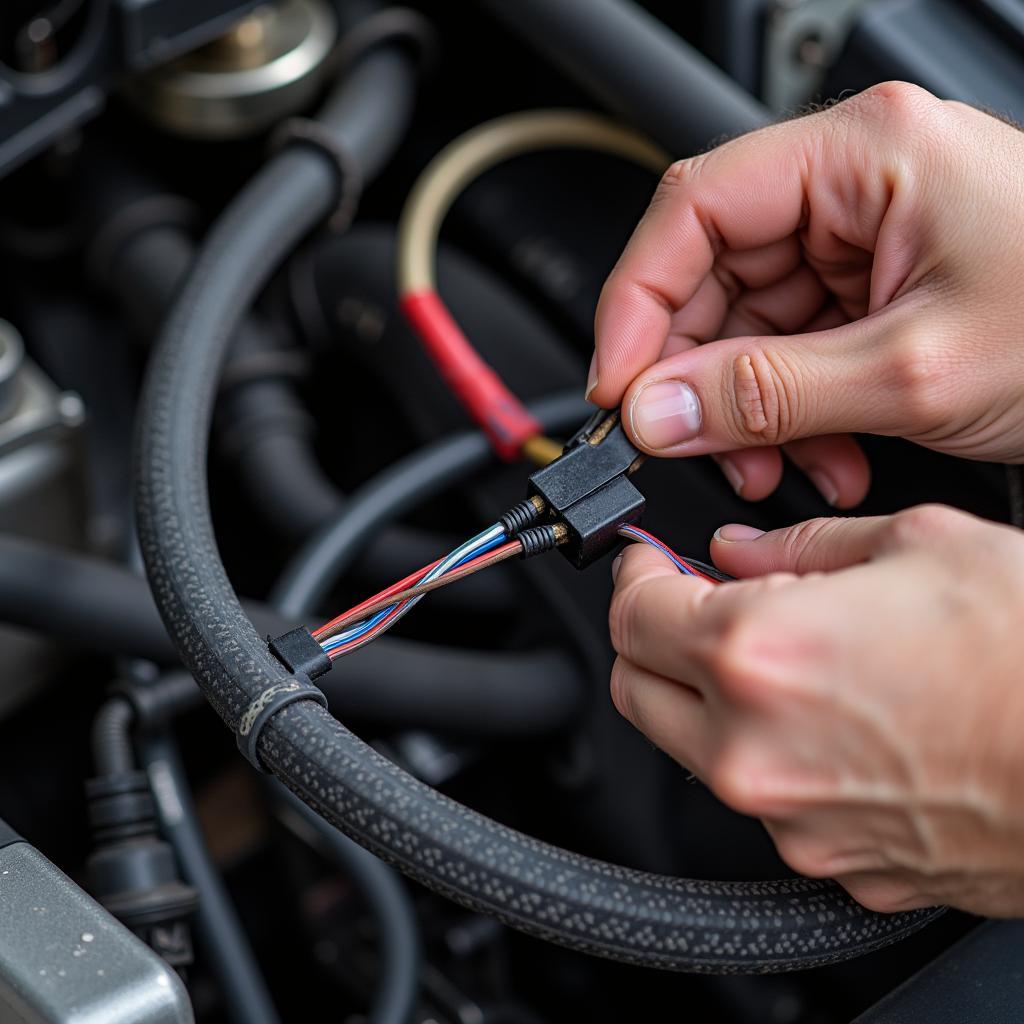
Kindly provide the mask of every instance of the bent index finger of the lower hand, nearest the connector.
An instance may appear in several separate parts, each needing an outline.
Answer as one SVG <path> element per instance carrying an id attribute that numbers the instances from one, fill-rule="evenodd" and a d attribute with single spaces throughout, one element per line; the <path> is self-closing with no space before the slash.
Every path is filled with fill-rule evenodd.
<path id="1" fill-rule="evenodd" d="M 699 689 L 718 632 L 708 610 L 715 585 L 683 575 L 645 545 L 623 553 L 608 626 L 615 650 L 634 665 Z"/>

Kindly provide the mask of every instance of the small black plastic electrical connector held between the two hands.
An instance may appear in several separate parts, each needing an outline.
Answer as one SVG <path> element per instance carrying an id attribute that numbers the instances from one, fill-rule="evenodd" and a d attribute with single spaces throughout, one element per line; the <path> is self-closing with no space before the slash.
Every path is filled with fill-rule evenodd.
<path id="1" fill-rule="evenodd" d="M 566 444 L 561 457 L 529 478 L 528 494 L 564 523 L 559 550 L 579 569 L 618 543 L 618 529 L 640 521 L 644 497 L 629 480 L 643 454 L 626 436 L 617 412 L 599 410 Z"/>

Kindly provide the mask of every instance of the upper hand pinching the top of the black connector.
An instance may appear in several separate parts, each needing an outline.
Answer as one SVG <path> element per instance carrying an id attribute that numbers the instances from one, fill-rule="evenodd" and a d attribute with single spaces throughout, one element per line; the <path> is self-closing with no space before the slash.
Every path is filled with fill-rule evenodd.
<path id="1" fill-rule="evenodd" d="M 1024 133 L 899 82 L 674 164 L 612 270 L 588 396 L 757 499 L 834 505 L 847 431 L 1024 462 Z"/>

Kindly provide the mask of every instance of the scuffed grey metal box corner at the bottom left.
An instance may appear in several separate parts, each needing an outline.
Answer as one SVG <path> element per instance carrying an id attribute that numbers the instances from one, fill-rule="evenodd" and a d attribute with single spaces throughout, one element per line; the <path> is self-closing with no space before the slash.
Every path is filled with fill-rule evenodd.
<path id="1" fill-rule="evenodd" d="M 0 849 L 0 1024 L 191 1024 L 178 976 L 28 843 Z"/>

